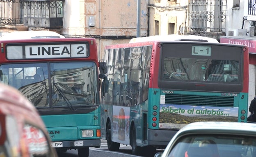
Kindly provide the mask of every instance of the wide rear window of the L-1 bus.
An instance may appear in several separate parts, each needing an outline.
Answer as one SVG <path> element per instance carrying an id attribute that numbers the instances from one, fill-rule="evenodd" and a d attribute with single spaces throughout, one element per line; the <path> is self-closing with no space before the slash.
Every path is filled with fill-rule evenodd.
<path id="1" fill-rule="evenodd" d="M 238 61 L 200 58 L 164 58 L 164 80 L 238 82 Z"/>

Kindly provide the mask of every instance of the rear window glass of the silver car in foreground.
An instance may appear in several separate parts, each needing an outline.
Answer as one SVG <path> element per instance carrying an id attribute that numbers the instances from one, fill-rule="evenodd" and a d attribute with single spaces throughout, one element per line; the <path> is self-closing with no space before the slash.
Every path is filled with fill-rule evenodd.
<path id="1" fill-rule="evenodd" d="M 256 138 L 189 136 L 176 142 L 168 157 L 255 157 Z"/>

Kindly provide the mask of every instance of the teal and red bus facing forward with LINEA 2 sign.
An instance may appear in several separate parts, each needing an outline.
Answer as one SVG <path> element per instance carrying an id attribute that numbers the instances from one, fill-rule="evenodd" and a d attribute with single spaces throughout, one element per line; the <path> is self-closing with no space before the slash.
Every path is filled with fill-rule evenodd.
<path id="1" fill-rule="evenodd" d="M 37 35 L 36 35 L 37 37 Z M 0 80 L 37 108 L 57 152 L 101 145 L 94 38 L 1 39 Z"/>

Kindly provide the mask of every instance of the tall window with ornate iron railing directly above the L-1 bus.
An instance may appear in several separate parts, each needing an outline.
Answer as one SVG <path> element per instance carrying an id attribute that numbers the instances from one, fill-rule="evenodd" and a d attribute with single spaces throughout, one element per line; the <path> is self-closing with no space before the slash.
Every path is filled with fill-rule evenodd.
<path id="1" fill-rule="evenodd" d="M 188 33 L 225 32 L 226 0 L 190 0 Z"/>

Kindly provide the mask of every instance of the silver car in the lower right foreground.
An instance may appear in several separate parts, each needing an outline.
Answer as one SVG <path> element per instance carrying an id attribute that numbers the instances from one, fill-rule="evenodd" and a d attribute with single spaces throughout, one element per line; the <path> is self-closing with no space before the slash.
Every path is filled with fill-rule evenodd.
<path id="1" fill-rule="evenodd" d="M 256 124 L 190 123 L 155 157 L 256 157 Z"/>

